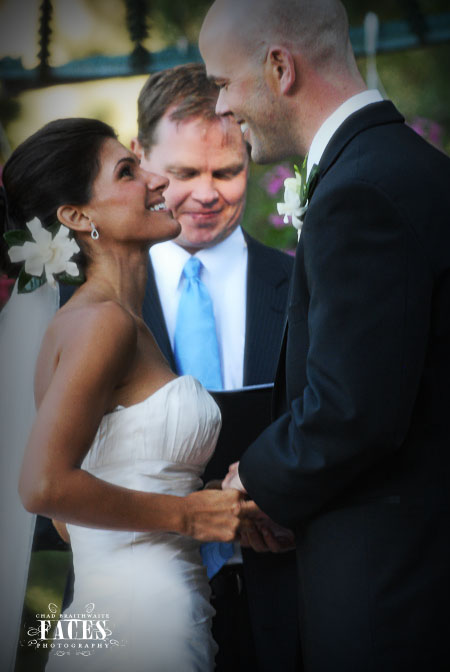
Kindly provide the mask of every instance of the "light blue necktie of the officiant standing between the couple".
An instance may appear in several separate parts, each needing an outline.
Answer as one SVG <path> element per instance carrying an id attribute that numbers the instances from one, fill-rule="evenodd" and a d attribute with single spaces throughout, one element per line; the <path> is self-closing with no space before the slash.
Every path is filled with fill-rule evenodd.
<path id="1" fill-rule="evenodd" d="M 211 297 L 200 280 L 202 267 L 197 257 L 191 257 L 183 268 L 185 282 L 175 326 L 175 362 L 178 373 L 194 376 L 210 390 L 221 390 L 216 321 Z M 211 579 L 233 555 L 233 544 L 209 542 L 202 544 L 200 552 Z"/>

